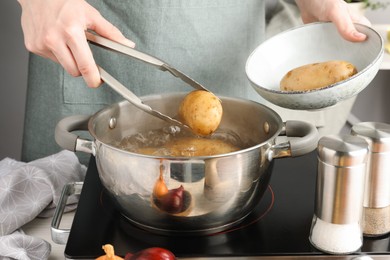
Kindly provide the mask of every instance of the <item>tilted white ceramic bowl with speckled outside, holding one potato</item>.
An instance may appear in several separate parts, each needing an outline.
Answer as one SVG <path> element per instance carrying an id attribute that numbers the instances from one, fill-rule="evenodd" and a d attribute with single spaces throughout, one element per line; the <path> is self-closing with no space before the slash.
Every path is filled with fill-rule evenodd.
<path id="1" fill-rule="evenodd" d="M 382 62 L 383 39 L 375 30 L 356 24 L 368 36 L 364 42 L 349 42 L 332 23 L 306 24 L 282 32 L 262 43 L 249 56 L 246 74 L 254 89 L 271 103 L 296 110 L 333 106 L 361 92 L 375 77 Z M 329 60 L 354 64 L 358 73 L 322 89 L 286 92 L 280 80 L 291 69 Z"/>

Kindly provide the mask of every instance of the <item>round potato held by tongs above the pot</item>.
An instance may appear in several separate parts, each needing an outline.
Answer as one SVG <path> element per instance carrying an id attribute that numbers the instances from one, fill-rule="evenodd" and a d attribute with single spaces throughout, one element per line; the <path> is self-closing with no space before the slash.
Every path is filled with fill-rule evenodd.
<path id="1" fill-rule="evenodd" d="M 221 123 L 222 104 L 213 93 L 194 90 L 181 102 L 179 116 L 194 134 L 210 135 Z"/>

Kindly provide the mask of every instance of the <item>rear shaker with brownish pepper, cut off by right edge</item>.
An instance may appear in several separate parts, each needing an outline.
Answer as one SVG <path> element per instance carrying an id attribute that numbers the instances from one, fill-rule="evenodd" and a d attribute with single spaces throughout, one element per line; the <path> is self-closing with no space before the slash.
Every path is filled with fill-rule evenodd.
<path id="1" fill-rule="evenodd" d="M 363 202 L 363 235 L 390 233 L 390 125 L 364 122 L 354 125 L 351 134 L 369 144 Z"/>

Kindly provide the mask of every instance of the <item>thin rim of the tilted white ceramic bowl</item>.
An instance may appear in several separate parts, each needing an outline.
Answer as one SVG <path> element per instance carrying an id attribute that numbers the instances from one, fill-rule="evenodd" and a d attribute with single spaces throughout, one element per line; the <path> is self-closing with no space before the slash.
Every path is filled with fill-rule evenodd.
<path id="1" fill-rule="evenodd" d="M 378 52 L 378 54 L 376 55 L 375 59 L 373 61 L 371 61 L 366 67 L 364 67 L 362 70 L 358 71 L 358 73 L 356 73 L 355 75 L 347 78 L 347 79 L 344 79 L 342 81 L 338 81 L 336 83 L 333 83 L 331 85 L 328 85 L 326 87 L 322 87 L 322 88 L 317 88 L 317 89 L 311 89 L 311 90 L 295 90 L 295 91 L 283 91 L 283 90 L 276 90 L 276 89 L 270 89 L 270 88 L 267 88 L 267 87 L 263 87 L 261 85 L 259 85 L 258 83 L 256 83 L 251 77 L 250 75 L 248 74 L 248 67 L 249 67 L 249 62 L 251 61 L 253 55 L 257 52 L 257 50 L 262 47 L 263 44 L 267 43 L 267 42 L 270 42 L 271 40 L 274 40 L 275 37 L 281 37 L 282 35 L 284 34 L 287 34 L 287 33 L 291 33 L 292 31 L 295 31 L 295 30 L 299 30 L 301 28 L 306 28 L 306 27 L 313 27 L 313 26 L 323 26 L 323 25 L 331 25 L 333 24 L 332 22 L 313 22 L 313 23 L 308 23 L 308 24 L 303 24 L 303 25 L 299 25 L 299 26 L 296 26 L 296 27 L 293 27 L 293 28 L 290 28 L 290 29 L 287 29 L 283 32 L 280 32 L 278 34 L 276 34 L 275 36 L 265 40 L 264 42 L 262 42 L 260 45 L 258 45 L 252 52 L 251 54 L 249 55 L 247 61 L 246 61 L 246 64 L 245 64 L 245 72 L 246 72 L 246 75 L 247 75 L 247 78 L 248 80 L 252 83 L 253 87 L 255 88 L 259 88 L 261 90 L 264 90 L 266 92 L 270 92 L 270 93 L 273 93 L 273 94 L 278 94 L 278 95 L 302 95 L 302 94 L 309 94 L 309 93 L 315 93 L 315 92 L 321 92 L 321 91 L 324 91 L 324 90 L 327 90 L 327 89 L 331 89 L 331 88 L 335 88 L 339 85 L 342 85 L 348 81 L 352 81 L 354 79 L 356 79 L 358 76 L 360 76 L 361 74 L 363 74 L 364 72 L 366 72 L 367 70 L 369 70 L 371 67 L 373 67 L 383 56 L 384 54 L 384 40 L 382 38 L 382 36 L 376 31 L 374 30 L 372 27 L 370 26 L 367 26 L 365 24 L 360 24 L 360 23 L 354 23 L 355 25 L 357 25 L 358 27 L 364 27 L 368 30 L 370 30 L 371 32 L 374 33 L 374 35 L 378 36 L 377 38 L 380 40 L 380 51 Z M 272 102 L 273 103 L 273 102 Z M 275 103 L 275 105 L 278 105 Z"/>

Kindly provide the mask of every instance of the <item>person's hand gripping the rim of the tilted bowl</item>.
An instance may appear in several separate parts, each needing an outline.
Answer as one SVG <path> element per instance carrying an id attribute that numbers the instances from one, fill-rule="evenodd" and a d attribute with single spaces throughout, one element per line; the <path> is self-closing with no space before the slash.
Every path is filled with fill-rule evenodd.
<path id="1" fill-rule="evenodd" d="M 364 41 L 366 35 L 358 32 L 353 23 L 370 26 L 364 16 L 352 12 L 343 0 L 296 0 L 304 23 L 331 21 L 339 33 L 349 41 Z"/>

